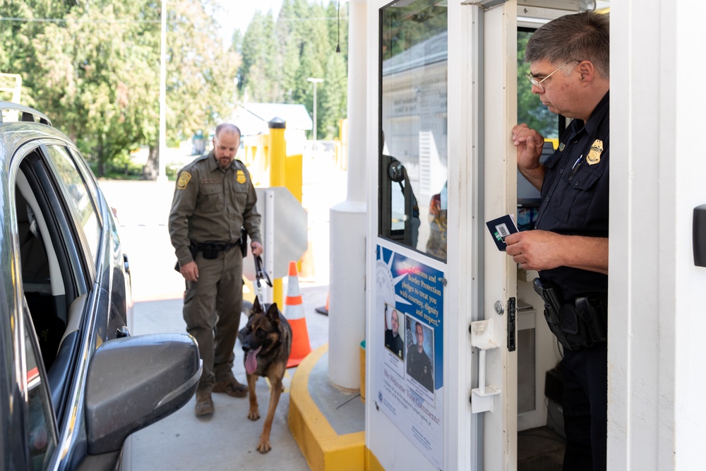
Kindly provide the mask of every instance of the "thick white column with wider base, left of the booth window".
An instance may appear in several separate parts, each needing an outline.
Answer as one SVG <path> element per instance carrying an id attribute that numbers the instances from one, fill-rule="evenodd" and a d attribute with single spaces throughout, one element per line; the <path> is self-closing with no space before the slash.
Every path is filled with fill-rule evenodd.
<path id="1" fill-rule="evenodd" d="M 347 389 L 361 384 L 360 341 L 366 329 L 366 4 L 366 0 L 349 0 L 348 190 L 346 201 L 331 208 L 329 219 L 328 378 Z"/>

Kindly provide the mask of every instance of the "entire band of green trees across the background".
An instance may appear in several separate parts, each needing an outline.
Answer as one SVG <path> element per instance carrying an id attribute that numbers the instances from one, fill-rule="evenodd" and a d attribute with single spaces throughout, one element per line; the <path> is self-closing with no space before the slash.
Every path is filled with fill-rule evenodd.
<path id="1" fill-rule="evenodd" d="M 99 176 L 124 174 L 128 150 L 138 145 L 152 150 L 147 167 L 158 165 L 161 6 L 0 0 L 0 71 L 22 76 L 23 105 L 51 117 Z M 324 79 L 316 85 L 318 137 L 337 136 L 347 108 L 347 6 L 284 0 L 276 20 L 258 11 L 225 48 L 214 0 L 170 0 L 167 141 L 213 129 L 246 97 L 301 103 L 313 114 L 309 77 Z M 128 165 L 127 173 L 138 170 Z"/>

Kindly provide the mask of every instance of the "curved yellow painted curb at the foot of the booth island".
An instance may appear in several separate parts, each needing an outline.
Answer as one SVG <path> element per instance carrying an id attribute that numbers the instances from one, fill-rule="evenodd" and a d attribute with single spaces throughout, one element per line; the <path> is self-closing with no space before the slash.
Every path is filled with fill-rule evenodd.
<path id="1" fill-rule="evenodd" d="M 289 392 L 289 430 L 313 471 L 360 471 L 365 465 L 365 431 L 338 435 L 309 396 L 309 374 L 328 352 L 318 347 L 297 366 Z"/>

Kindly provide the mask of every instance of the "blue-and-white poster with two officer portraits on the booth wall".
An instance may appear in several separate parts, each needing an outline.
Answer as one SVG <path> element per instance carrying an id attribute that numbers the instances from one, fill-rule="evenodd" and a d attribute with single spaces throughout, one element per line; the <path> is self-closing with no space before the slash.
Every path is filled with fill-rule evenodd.
<path id="1" fill-rule="evenodd" d="M 383 246 L 376 254 L 376 405 L 441 469 L 443 273 Z"/>

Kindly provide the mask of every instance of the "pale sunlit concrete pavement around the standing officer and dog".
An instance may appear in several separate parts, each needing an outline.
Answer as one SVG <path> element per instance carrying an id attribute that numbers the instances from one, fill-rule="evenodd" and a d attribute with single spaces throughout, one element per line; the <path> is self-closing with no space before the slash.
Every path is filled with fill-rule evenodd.
<path id="1" fill-rule="evenodd" d="M 328 295 L 328 208 L 337 203 L 337 198 L 345 197 L 345 180 L 341 184 L 341 174 L 331 177 L 325 165 L 318 165 L 317 171 L 321 176 L 309 181 L 305 178 L 304 185 L 314 270 L 309 277 L 299 277 L 312 350 L 328 342 L 328 317 L 315 311 L 325 305 Z M 174 271 L 174 249 L 167 231 L 174 182 L 102 180 L 100 186 L 109 204 L 116 209 L 121 244 L 128 255 L 136 302 L 131 326 L 133 335 L 185 333 L 181 317 L 184 280 Z M 286 293 L 286 279 L 284 285 Z M 243 318 L 241 326 L 244 323 Z M 239 343 L 235 352 L 234 374 L 245 382 Z M 269 400 L 268 384 L 261 378 L 257 383 L 261 419 L 252 422 L 247 418 L 247 398 L 231 398 L 225 394 L 213 395 L 215 414 L 212 417 L 197 419 L 192 398 L 181 410 L 133 434 L 128 439 L 131 449 L 125 460 L 136 471 L 225 471 L 260 467 L 309 470 L 287 424 L 289 381 L 294 371 L 296 368 L 289 369 L 285 377 L 287 390 L 280 397 L 275 413 L 270 435 L 273 448 L 269 453 L 261 455 L 256 451 Z"/>

